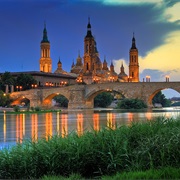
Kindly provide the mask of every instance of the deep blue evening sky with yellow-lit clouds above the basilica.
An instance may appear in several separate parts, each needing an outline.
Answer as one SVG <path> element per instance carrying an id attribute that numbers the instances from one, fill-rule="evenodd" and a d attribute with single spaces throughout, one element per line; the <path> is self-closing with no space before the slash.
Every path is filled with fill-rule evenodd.
<path id="1" fill-rule="evenodd" d="M 128 74 L 133 33 L 140 81 L 180 81 L 180 0 L 0 0 L 0 72 L 39 71 L 44 24 L 52 71 L 60 58 L 70 72 L 90 17 L 101 61 Z M 179 94 L 179 93 L 178 93 Z"/>

